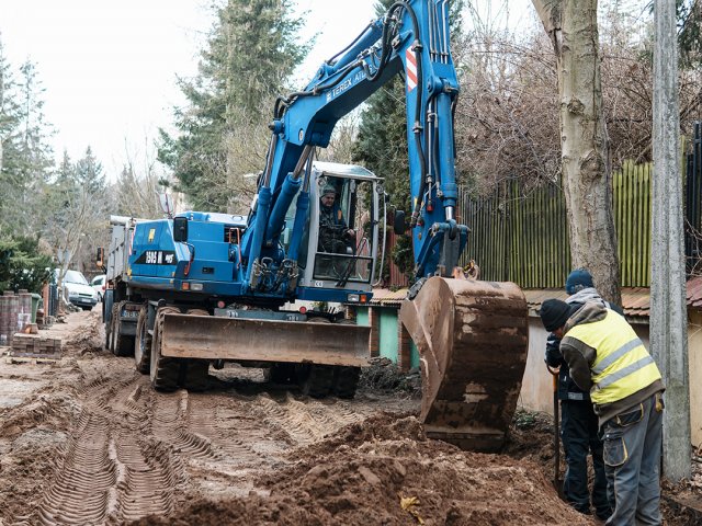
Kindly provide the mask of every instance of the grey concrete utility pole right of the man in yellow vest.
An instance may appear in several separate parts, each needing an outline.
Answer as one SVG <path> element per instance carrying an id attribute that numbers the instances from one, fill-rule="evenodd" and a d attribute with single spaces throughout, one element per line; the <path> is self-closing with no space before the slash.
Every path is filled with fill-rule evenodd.
<path id="1" fill-rule="evenodd" d="M 655 0 L 650 350 L 666 384 L 663 474 L 691 476 L 676 2 Z"/>

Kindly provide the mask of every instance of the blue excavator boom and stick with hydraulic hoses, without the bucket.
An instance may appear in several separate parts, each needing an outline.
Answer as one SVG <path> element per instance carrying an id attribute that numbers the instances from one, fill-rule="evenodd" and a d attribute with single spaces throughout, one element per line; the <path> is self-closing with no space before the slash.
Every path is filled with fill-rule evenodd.
<path id="1" fill-rule="evenodd" d="M 399 72 L 407 85 L 416 274 L 451 275 L 467 237 L 454 211 L 453 111 L 458 83 L 449 52 L 448 2 L 415 0 L 394 3 L 346 50 L 325 62 L 304 90 L 276 101 L 252 228 L 244 239 L 249 287 L 257 279 L 257 262 L 276 245 L 293 199 L 306 192 L 305 167 L 315 147 L 328 146 L 338 119 Z M 296 247 L 290 252 L 296 255 Z"/>

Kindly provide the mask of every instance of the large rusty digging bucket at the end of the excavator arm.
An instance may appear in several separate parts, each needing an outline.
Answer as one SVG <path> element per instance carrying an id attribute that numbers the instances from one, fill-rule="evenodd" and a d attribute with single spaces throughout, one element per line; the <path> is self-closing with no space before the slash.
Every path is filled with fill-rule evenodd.
<path id="1" fill-rule="evenodd" d="M 498 450 L 521 389 L 526 300 L 513 283 L 429 278 L 400 308 L 421 358 L 427 435 L 462 449 Z"/>

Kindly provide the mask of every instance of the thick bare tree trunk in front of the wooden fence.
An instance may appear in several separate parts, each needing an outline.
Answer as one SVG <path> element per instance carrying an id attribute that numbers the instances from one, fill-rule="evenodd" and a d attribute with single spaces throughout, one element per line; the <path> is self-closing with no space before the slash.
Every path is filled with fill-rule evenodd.
<path id="1" fill-rule="evenodd" d="M 612 171 L 602 112 L 597 0 L 532 0 L 556 55 L 562 181 L 573 267 L 621 302 L 612 215 Z"/>

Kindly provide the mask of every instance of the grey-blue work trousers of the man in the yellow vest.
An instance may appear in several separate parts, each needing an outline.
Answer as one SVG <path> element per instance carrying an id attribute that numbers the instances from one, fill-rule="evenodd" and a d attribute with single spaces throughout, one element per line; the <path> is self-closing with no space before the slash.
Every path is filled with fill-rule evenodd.
<path id="1" fill-rule="evenodd" d="M 660 525 L 661 393 L 607 421 L 603 437 L 608 496 L 614 510 L 607 526 Z"/>

